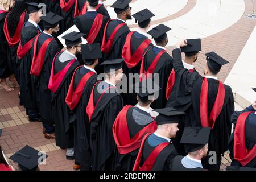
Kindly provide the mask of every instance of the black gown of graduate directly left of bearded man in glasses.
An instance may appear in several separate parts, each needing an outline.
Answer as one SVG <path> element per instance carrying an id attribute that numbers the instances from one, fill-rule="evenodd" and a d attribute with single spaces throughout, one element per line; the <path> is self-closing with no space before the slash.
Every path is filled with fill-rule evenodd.
<path id="1" fill-rule="evenodd" d="M 42 33 L 39 36 L 37 52 L 39 51 L 44 41 L 46 41 L 48 38 L 51 38 L 51 36 L 44 33 Z M 32 50 L 33 49 L 34 46 L 32 46 Z M 41 115 L 42 121 L 47 122 L 49 124 L 52 124 L 53 121 L 51 118 L 52 94 L 51 91 L 48 89 L 48 84 L 49 77 L 51 76 L 52 61 L 57 52 L 60 52 L 60 49 L 56 40 L 53 40 L 51 43 L 49 43 L 47 47 L 46 56 L 44 57 L 43 67 L 40 72 L 40 75 L 37 77 L 33 76 L 36 88 L 36 101 L 38 103 L 39 113 Z M 32 55 L 34 55 L 33 51 L 31 52 L 31 56 Z"/>

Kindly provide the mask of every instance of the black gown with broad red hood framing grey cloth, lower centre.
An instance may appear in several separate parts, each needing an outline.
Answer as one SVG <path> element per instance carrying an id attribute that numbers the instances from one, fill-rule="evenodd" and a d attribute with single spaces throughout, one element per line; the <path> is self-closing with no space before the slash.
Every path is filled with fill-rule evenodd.
<path id="1" fill-rule="evenodd" d="M 156 129 L 155 119 L 149 113 L 134 106 L 123 107 L 113 126 L 115 144 L 120 154 L 115 170 L 133 170 L 143 136 Z"/>

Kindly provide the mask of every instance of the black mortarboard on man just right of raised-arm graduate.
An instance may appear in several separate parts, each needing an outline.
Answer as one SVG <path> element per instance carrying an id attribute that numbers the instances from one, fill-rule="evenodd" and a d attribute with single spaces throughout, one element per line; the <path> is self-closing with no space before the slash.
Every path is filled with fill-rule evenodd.
<path id="1" fill-rule="evenodd" d="M 215 52 L 208 52 L 205 56 L 207 56 L 208 65 L 213 71 L 220 71 L 222 65 L 229 63 Z"/>

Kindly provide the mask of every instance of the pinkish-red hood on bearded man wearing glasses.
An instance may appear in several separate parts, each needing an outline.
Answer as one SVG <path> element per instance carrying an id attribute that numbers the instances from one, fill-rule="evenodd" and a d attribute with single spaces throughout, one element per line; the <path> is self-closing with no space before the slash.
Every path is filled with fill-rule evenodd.
<path id="1" fill-rule="evenodd" d="M 62 53 L 62 52 L 58 52 L 55 55 L 55 57 L 53 58 L 53 61 L 52 61 L 52 70 L 51 70 L 51 76 L 50 76 L 49 85 L 48 85 L 48 89 L 51 90 L 52 93 L 56 92 L 56 90 L 59 88 L 61 82 L 63 81 L 66 73 L 68 72 L 68 69 L 76 61 L 76 59 L 73 59 L 73 60 L 69 61 L 69 63 L 65 66 L 65 68 L 63 68 L 61 71 L 59 71 L 58 73 L 56 73 L 54 75 L 55 59 L 56 59 L 56 56 L 59 55 L 60 53 Z"/>

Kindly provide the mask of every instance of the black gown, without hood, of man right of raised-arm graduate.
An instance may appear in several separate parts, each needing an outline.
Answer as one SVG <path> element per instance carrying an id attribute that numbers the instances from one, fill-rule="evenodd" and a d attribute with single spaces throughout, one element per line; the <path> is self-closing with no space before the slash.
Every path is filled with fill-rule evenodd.
<path id="1" fill-rule="evenodd" d="M 192 106 L 193 112 L 195 113 L 195 120 L 191 120 L 191 123 L 186 123 L 187 126 L 201 126 L 200 119 L 200 93 L 201 84 L 203 78 L 199 78 L 192 89 Z M 213 104 L 217 97 L 218 92 L 218 80 L 212 78 L 207 78 L 208 81 L 208 114 L 212 111 Z M 220 115 L 218 115 L 213 129 L 210 131 L 210 137 L 208 142 L 208 152 L 216 151 L 217 154 L 217 164 L 209 165 L 207 158 L 202 160 L 203 167 L 209 170 L 219 170 L 221 165 L 221 155 L 224 155 L 225 151 L 228 150 L 228 141 L 231 134 L 231 115 L 234 113 L 234 98 L 232 89 L 228 85 L 225 87 L 225 99 L 222 106 Z"/>

